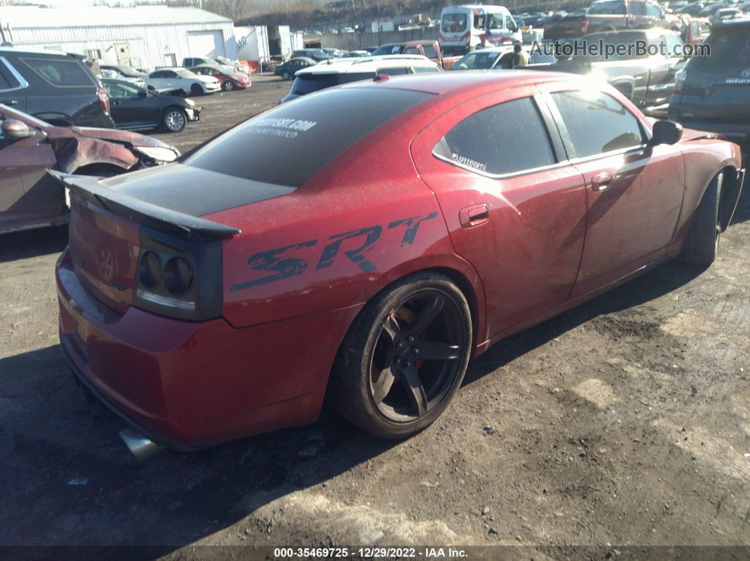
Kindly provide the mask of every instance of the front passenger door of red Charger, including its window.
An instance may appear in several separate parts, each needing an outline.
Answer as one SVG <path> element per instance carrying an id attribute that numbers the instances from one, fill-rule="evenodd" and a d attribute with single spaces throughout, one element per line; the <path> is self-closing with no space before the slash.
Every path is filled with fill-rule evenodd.
<path id="1" fill-rule="evenodd" d="M 648 146 L 640 112 L 612 95 L 568 88 L 549 97 L 568 155 L 586 178 L 578 297 L 664 255 L 682 207 L 685 166 L 676 146 Z"/>

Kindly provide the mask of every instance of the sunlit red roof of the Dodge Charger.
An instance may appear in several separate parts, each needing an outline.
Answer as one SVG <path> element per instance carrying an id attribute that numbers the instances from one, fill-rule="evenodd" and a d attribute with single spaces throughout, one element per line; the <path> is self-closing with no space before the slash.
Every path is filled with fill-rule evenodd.
<path id="1" fill-rule="evenodd" d="M 302 71 L 300 71 L 302 73 Z M 485 88 L 510 88 L 544 82 L 579 82 L 590 84 L 590 79 L 577 74 L 546 70 L 465 70 L 462 72 L 424 73 L 411 76 L 389 76 L 388 79 L 362 80 L 341 86 L 342 88 L 397 88 L 423 91 L 439 96 L 459 95 L 464 91 Z M 480 92 L 481 93 L 481 92 Z"/>

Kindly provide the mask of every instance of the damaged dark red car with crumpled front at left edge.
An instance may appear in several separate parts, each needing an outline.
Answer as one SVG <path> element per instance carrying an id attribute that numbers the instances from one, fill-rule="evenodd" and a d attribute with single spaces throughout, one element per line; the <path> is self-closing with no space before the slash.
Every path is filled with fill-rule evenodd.
<path id="1" fill-rule="evenodd" d="M 117 175 L 172 162 L 179 152 L 137 133 L 55 127 L 0 104 L 0 234 L 65 224 L 65 189 L 46 169 Z"/>

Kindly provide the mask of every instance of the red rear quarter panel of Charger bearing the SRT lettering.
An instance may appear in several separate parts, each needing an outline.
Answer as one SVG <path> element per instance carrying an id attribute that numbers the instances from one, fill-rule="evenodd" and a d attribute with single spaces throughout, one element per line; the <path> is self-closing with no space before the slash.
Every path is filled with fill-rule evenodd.
<path id="1" fill-rule="evenodd" d="M 290 195 L 206 216 L 242 228 L 223 242 L 230 324 L 361 306 L 390 283 L 428 268 L 460 273 L 476 293 L 468 299 L 482 309 L 478 276 L 453 252 L 437 200 L 414 169 L 409 142 L 416 131 L 399 131 L 397 124 L 389 134 L 389 128 Z"/>

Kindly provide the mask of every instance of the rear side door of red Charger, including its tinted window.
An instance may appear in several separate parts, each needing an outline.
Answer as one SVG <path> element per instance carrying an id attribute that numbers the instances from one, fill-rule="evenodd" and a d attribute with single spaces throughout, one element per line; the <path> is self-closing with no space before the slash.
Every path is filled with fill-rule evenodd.
<path id="1" fill-rule="evenodd" d="M 455 251 L 484 284 L 488 337 L 565 303 L 583 250 L 583 176 L 537 94 L 526 86 L 475 97 L 413 142 Z"/>

